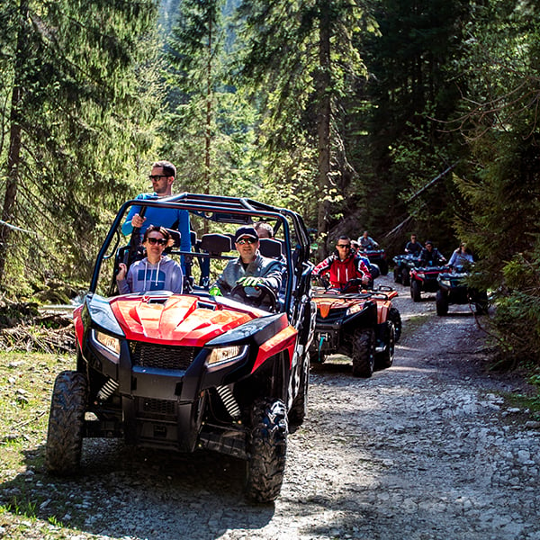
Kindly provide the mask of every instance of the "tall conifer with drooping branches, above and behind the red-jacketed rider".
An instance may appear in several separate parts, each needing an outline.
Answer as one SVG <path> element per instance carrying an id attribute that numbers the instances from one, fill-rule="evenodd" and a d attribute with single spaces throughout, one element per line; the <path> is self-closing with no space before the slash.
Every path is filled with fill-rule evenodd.
<path id="1" fill-rule="evenodd" d="M 309 193 L 315 199 L 313 216 L 326 238 L 339 196 L 338 183 L 348 175 L 338 116 L 344 97 L 365 66 L 354 36 L 375 31 L 366 5 L 356 0 L 293 2 L 244 0 L 239 8 L 246 44 L 242 74 L 254 86 L 267 120 L 261 126 L 269 152 L 289 151 L 298 161 L 296 173 L 316 170 Z M 264 97 L 262 100 L 260 96 Z M 302 157 L 291 151 L 302 149 Z M 311 149 L 315 149 L 316 162 Z M 295 174 L 293 174 L 295 176 Z M 306 197 L 306 194 L 309 196 Z M 305 202 L 304 202 L 305 204 Z M 327 253 L 320 244 L 320 257 Z"/>

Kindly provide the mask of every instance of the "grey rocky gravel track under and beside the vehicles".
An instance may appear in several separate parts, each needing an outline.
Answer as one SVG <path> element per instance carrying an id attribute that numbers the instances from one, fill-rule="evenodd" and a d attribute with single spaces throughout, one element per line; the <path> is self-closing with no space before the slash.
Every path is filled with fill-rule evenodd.
<path id="1" fill-rule="evenodd" d="M 397 286 L 394 365 L 367 380 L 343 357 L 313 368 L 309 418 L 289 437 L 275 504 L 248 505 L 244 464 L 228 457 L 85 442 L 78 481 L 21 473 L 40 501 L 22 537 L 540 540 L 540 424 L 507 401 L 523 382 L 486 371 L 468 306 L 439 318 L 432 295 L 413 303 Z M 59 500 L 62 527 L 47 524 Z"/>

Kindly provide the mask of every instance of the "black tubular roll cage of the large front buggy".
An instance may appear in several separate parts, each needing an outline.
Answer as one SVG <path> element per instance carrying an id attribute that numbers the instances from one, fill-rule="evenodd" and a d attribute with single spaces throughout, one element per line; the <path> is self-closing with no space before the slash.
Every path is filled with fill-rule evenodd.
<path id="1" fill-rule="evenodd" d="M 237 225 L 250 225 L 253 223 L 252 217 L 257 216 L 259 219 L 271 218 L 276 220 L 275 233 L 281 230 L 284 238 L 284 259 L 286 261 L 287 283 L 285 289 L 284 311 L 288 312 L 291 306 L 291 298 L 293 294 L 293 275 L 300 280 L 303 272 L 309 268 L 302 268 L 302 263 L 296 261 L 308 261 L 310 257 L 311 240 L 305 228 L 302 216 L 295 211 L 287 210 L 258 202 L 253 199 L 244 197 L 230 197 L 222 195 L 210 195 L 204 193 L 179 193 L 159 200 L 130 200 L 121 205 L 120 210 L 112 221 L 111 228 L 103 241 L 96 257 L 94 273 L 89 286 L 89 293 L 95 293 L 99 281 L 99 275 L 103 260 L 111 257 L 107 256 L 109 248 L 112 245 L 113 238 L 116 237 L 116 243 L 113 251 L 120 243 L 119 230 L 121 223 L 125 219 L 128 209 L 131 206 L 139 206 L 141 210 L 145 207 L 169 208 L 176 210 L 190 211 L 194 216 L 202 217 L 206 220 L 211 220 L 218 223 L 234 223 Z M 292 246 L 292 227 L 294 231 L 294 239 L 296 245 Z M 298 257 L 293 257 L 293 252 L 298 254 Z M 179 250 L 178 255 L 199 257 L 201 254 L 194 251 L 186 252 Z"/>

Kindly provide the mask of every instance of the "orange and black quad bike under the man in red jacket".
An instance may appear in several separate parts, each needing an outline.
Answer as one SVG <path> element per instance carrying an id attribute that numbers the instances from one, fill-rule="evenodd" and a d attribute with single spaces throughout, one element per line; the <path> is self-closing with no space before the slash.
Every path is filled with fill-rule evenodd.
<path id="1" fill-rule="evenodd" d="M 351 280 L 356 281 L 356 280 Z M 392 287 L 344 293 L 325 286 L 313 287 L 317 305 L 315 337 L 311 342 L 312 364 L 321 364 L 329 355 L 349 356 L 353 375 L 371 377 L 375 369 L 390 367 L 394 346 L 401 336 L 400 311 L 392 306 L 397 296 Z"/>

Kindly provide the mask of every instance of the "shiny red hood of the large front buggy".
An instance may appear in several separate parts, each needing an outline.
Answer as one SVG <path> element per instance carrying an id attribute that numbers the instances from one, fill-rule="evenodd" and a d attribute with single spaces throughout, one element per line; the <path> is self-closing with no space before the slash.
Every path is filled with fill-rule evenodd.
<path id="1" fill-rule="evenodd" d="M 248 320 L 267 315 L 266 311 L 232 307 L 231 303 L 201 301 L 190 295 L 174 295 L 166 302 L 156 302 L 155 297 L 118 296 L 110 302 L 126 338 L 188 347 L 202 347 Z"/>

